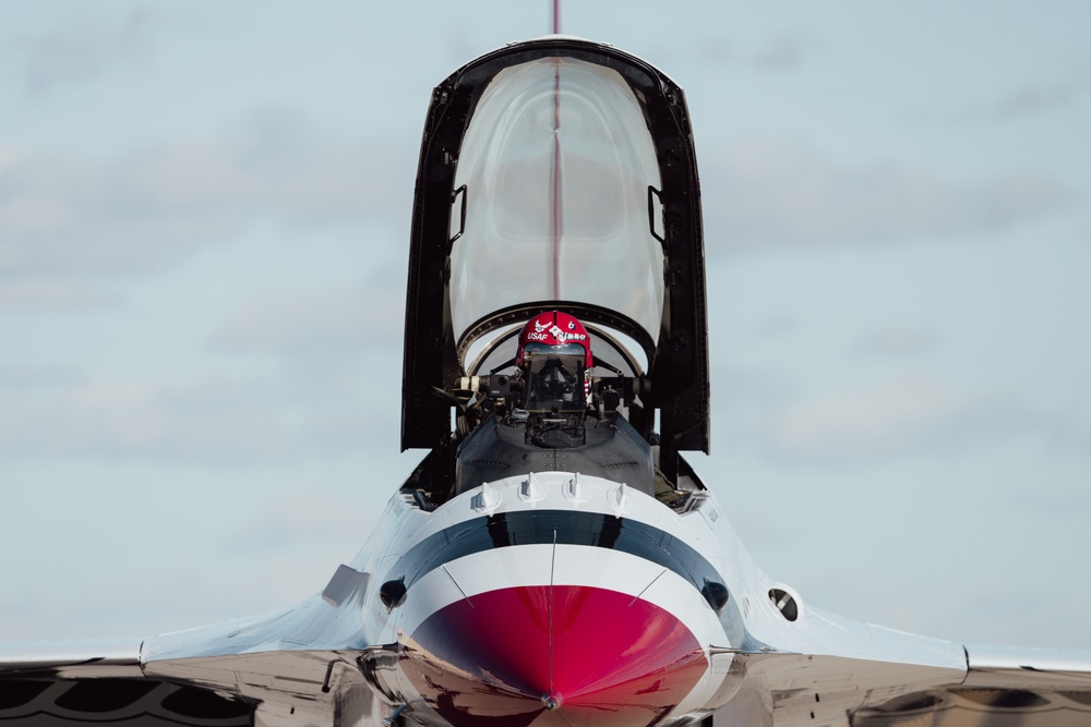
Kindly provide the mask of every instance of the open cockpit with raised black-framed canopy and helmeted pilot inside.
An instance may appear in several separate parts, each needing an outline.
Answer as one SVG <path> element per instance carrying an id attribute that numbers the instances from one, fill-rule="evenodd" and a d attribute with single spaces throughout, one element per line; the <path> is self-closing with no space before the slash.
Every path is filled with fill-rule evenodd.
<path id="1" fill-rule="evenodd" d="M 607 46 L 515 44 L 436 87 L 403 400 L 431 490 L 614 465 L 650 489 L 707 450 L 695 165 L 681 89 Z"/>

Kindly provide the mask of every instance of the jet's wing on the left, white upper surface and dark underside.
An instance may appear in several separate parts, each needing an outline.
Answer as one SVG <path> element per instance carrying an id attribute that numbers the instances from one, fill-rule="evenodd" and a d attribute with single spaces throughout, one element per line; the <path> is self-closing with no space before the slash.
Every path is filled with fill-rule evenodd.
<path id="1" fill-rule="evenodd" d="M 147 639 L 0 643 L 0 725 L 377 725 L 363 681 L 359 595 L 343 566 L 323 595 Z"/>

